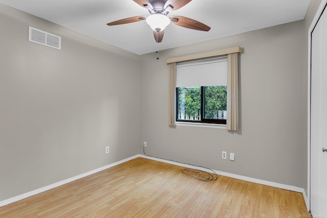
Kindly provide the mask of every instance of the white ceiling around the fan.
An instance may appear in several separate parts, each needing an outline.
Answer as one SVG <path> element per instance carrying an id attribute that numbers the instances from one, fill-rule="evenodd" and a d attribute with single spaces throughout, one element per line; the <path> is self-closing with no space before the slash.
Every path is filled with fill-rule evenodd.
<path id="1" fill-rule="evenodd" d="M 149 15 L 147 9 L 132 0 L 0 2 L 141 55 L 300 20 L 305 17 L 310 0 L 193 0 L 168 16 L 189 17 L 211 27 L 211 30 L 190 30 L 171 23 L 161 43 L 155 42 L 153 32 L 145 21 L 120 26 L 106 25 L 118 19 Z"/>

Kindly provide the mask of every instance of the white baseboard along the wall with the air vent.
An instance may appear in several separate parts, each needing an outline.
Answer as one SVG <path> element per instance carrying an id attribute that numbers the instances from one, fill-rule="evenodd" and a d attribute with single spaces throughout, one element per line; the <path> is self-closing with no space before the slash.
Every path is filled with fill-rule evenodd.
<path id="1" fill-rule="evenodd" d="M 92 171 L 89 171 L 89 172 L 86 172 L 86 173 L 83 173 L 83 174 L 80 174 L 78 176 L 75 176 L 75 177 L 72 177 L 72 178 L 68 178 L 68 179 L 65 179 L 65 180 L 62 180 L 60 182 L 56 182 L 54 184 L 51 184 L 51 185 L 47 185 L 47 186 L 44 186 L 42 188 L 38 188 L 36 190 L 33 190 L 33 191 L 29 191 L 27 193 L 24 193 L 22 195 L 19 195 L 19 196 L 16 196 L 16 197 L 13 197 L 13 198 L 10 198 L 10 199 L 7 199 L 7 200 L 4 200 L 4 201 L 0 201 L 0 207 L 2 206 L 5 206 L 5 205 L 8 205 L 8 204 L 11 204 L 11 203 L 14 203 L 16 201 L 19 201 L 19 200 L 22 200 L 22 199 L 25 199 L 25 198 L 28 198 L 28 197 L 31 197 L 31 196 L 34 196 L 34 195 L 37 195 L 38 193 L 41 193 L 43 191 L 47 191 L 47 190 L 50 190 L 52 188 L 56 188 L 58 186 L 61 186 L 61 185 L 64 185 L 66 183 L 69 183 L 69 182 L 73 182 L 75 180 L 78 180 L 78 179 L 81 179 L 83 177 L 86 177 L 86 176 L 89 176 L 89 175 L 92 175 L 92 174 L 95 174 L 95 173 L 98 173 L 100 171 L 103 171 L 104 169 L 108 169 L 110 167 L 113 167 L 115 165 L 118 165 L 118 164 L 121 164 L 121 163 L 124 163 L 126 161 L 129 161 L 129 160 L 132 160 L 136 157 L 139 157 L 139 155 L 135 155 L 135 156 L 132 156 L 132 157 L 129 157 L 129 158 L 126 158 L 124 160 L 120 160 L 120 161 L 117 161 L 117 162 L 114 162 L 114 163 L 111 163 L 109 165 L 106 165 L 106 166 L 102 166 L 100 168 L 97 168 L 97 169 L 94 169 Z"/>

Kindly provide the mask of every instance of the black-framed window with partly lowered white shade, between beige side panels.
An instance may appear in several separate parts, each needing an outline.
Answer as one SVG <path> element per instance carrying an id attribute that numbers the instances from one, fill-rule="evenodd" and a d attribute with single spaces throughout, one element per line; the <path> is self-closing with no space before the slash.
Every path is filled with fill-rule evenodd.
<path id="1" fill-rule="evenodd" d="M 226 124 L 227 57 L 176 64 L 176 121 Z"/>

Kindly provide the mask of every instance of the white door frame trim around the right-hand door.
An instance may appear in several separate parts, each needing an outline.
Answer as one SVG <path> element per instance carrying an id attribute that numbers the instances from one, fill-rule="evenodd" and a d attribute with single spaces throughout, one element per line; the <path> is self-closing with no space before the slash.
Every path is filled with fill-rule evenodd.
<path id="1" fill-rule="evenodd" d="M 306 204 L 310 211 L 311 209 L 311 33 L 314 30 L 322 12 L 327 6 L 327 0 L 321 0 L 319 8 L 311 22 L 308 30 L 308 187 Z M 327 12 L 326 12 L 327 13 Z"/>

